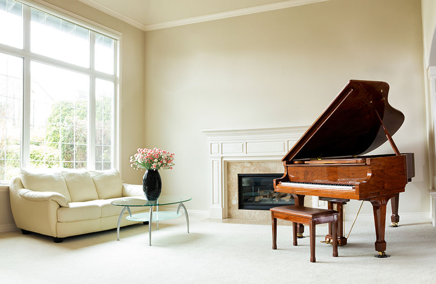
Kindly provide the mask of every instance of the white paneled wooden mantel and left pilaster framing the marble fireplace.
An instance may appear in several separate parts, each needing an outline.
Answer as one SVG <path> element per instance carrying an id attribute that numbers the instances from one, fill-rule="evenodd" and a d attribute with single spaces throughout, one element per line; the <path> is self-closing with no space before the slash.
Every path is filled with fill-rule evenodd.
<path id="1" fill-rule="evenodd" d="M 201 130 L 209 146 L 209 218 L 227 218 L 226 161 L 281 160 L 308 128 Z"/>

